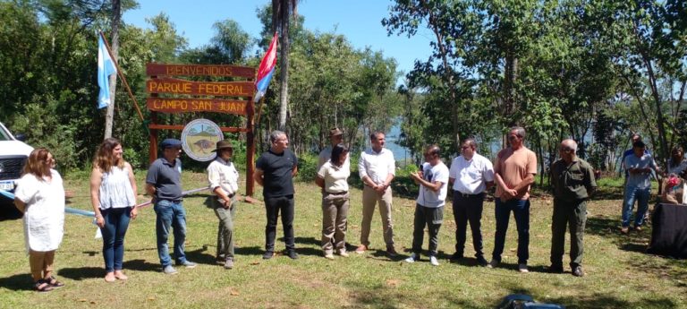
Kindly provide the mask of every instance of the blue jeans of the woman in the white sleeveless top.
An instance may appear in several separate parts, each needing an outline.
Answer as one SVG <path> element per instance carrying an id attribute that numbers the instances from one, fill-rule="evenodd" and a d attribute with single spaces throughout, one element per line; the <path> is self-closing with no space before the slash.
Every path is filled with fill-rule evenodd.
<path id="1" fill-rule="evenodd" d="M 131 219 L 131 207 L 100 210 L 105 226 L 100 228 L 103 234 L 103 257 L 105 271 L 122 270 L 124 258 L 124 235 Z"/>

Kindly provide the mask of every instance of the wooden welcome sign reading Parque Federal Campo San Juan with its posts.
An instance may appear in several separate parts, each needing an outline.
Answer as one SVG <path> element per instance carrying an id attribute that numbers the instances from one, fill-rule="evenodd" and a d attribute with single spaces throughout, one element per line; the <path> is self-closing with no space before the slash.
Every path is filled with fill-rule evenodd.
<path id="1" fill-rule="evenodd" d="M 245 127 L 220 126 L 222 132 L 246 133 L 246 195 L 253 195 L 255 140 L 253 136 L 256 69 L 225 64 L 146 64 L 146 106 L 151 114 L 150 152 L 157 159 L 157 130 L 183 130 L 184 124 L 157 124 L 157 113 L 213 112 L 246 116 Z M 177 76 L 213 76 L 243 79 L 240 82 L 197 82 Z M 159 94 L 168 94 L 160 98 Z"/>

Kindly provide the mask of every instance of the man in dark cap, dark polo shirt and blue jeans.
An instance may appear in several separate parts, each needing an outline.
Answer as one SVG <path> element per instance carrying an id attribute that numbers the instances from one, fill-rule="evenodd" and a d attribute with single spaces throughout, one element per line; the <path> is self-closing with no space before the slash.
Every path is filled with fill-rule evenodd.
<path id="1" fill-rule="evenodd" d="M 157 234 L 157 255 L 160 257 L 162 271 L 167 275 L 176 274 L 169 256 L 167 238 L 174 227 L 174 258 L 177 265 L 187 268 L 196 263 L 186 260 L 183 242 L 186 240 L 186 210 L 182 205 L 182 141 L 166 139 L 160 144 L 162 157 L 153 161 L 146 176 L 146 192 L 153 197 L 157 215 L 155 230 Z"/>

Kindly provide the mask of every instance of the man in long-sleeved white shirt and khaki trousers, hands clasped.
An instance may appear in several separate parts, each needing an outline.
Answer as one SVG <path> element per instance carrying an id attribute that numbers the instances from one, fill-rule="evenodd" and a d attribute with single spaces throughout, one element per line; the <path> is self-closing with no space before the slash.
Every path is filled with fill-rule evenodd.
<path id="1" fill-rule="evenodd" d="M 391 223 L 391 181 L 395 176 L 394 154 L 384 148 L 386 142 L 384 133 L 376 132 L 369 135 L 372 148 L 362 151 L 358 162 L 360 179 L 364 184 L 362 190 L 362 231 L 360 232 L 360 246 L 356 253 L 364 253 L 369 249 L 369 227 L 375 205 L 379 204 L 379 212 L 384 224 L 384 242 L 386 253 L 396 256 L 394 249 L 394 227 Z"/>

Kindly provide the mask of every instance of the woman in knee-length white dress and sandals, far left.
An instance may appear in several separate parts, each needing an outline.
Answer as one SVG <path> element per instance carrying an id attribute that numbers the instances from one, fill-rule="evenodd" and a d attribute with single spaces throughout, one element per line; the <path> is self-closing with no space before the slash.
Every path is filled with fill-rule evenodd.
<path id="1" fill-rule="evenodd" d="M 29 252 L 33 288 L 48 292 L 64 287 L 53 277 L 55 250 L 64 236 L 64 186 L 55 159 L 45 148 L 31 151 L 14 204 L 24 213 L 24 237 Z"/>

